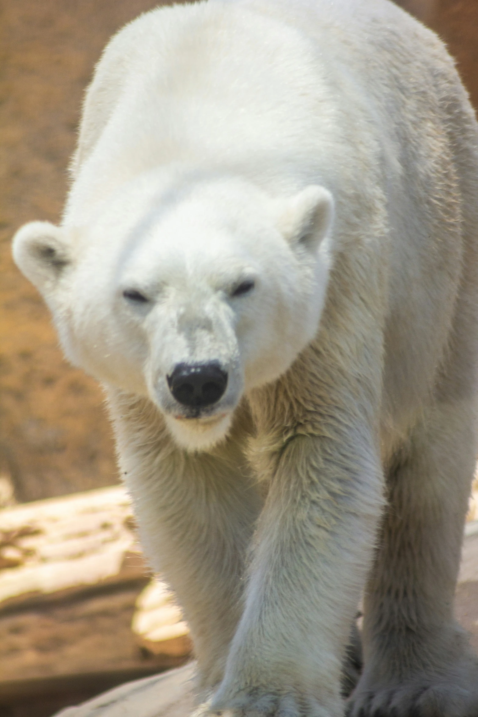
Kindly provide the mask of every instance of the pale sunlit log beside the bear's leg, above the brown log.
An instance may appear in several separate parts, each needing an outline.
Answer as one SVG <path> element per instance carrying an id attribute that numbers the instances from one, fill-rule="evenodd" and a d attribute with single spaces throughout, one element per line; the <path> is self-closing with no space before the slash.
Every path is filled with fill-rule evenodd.
<path id="1" fill-rule="evenodd" d="M 145 573 L 124 488 L 0 511 L 0 612 Z"/>

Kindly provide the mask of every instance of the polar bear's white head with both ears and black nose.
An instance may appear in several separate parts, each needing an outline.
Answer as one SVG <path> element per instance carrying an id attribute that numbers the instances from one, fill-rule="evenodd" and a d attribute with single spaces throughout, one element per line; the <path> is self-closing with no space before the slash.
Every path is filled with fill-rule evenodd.
<path id="1" fill-rule="evenodd" d="M 32 222 L 14 258 L 52 310 L 67 357 L 148 396 L 188 450 L 226 435 L 244 394 L 317 331 L 333 199 L 271 197 L 242 179 L 141 176 L 85 224 Z"/>

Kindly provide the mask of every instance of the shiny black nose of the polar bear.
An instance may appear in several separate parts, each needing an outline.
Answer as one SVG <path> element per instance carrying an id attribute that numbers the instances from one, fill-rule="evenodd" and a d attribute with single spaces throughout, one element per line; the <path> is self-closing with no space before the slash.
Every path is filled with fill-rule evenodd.
<path id="1" fill-rule="evenodd" d="M 183 406 L 211 406 L 219 401 L 226 385 L 227 374 L 217 361 L 210 364 L 178 364 L 168 376 L 169 390 Z"/>

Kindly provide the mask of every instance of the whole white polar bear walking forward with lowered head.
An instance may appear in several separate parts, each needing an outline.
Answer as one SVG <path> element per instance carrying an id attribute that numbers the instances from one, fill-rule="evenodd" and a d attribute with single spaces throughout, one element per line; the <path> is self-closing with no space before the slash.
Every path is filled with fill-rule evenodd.
<path id="1" fill-rule="evenodd" d="M 14 257 L 105 386 L 199 713 L 478 715 L 478 129 L 439 39 L 387 0 L 156 9 L 97 65 L 72 178 Z"/>

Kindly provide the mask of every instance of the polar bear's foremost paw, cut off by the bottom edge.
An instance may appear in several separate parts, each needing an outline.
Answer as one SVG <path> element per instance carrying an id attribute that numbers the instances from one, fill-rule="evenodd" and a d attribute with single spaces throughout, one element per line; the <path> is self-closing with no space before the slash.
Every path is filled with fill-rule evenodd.
<path id="1" fill-rule="evenodd" d="M 191 717 L 331 717 L 314 697 L 267 693 L 259 688 L 242 690 L 224 701 L 209 700 Z"/>

